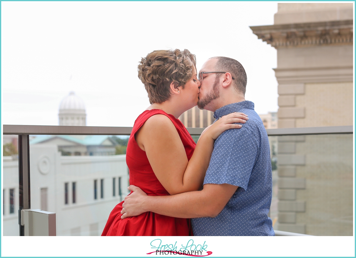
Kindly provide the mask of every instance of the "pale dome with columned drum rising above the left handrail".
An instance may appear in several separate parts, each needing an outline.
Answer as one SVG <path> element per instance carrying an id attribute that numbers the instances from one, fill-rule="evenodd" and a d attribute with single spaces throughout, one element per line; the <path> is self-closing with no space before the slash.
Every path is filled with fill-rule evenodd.
<path id="1" fill-rule="evenodd" d="M 74 91 L 64 97 L 59 105 L 59 125 L 87 125 L 84 101 Z"/>

